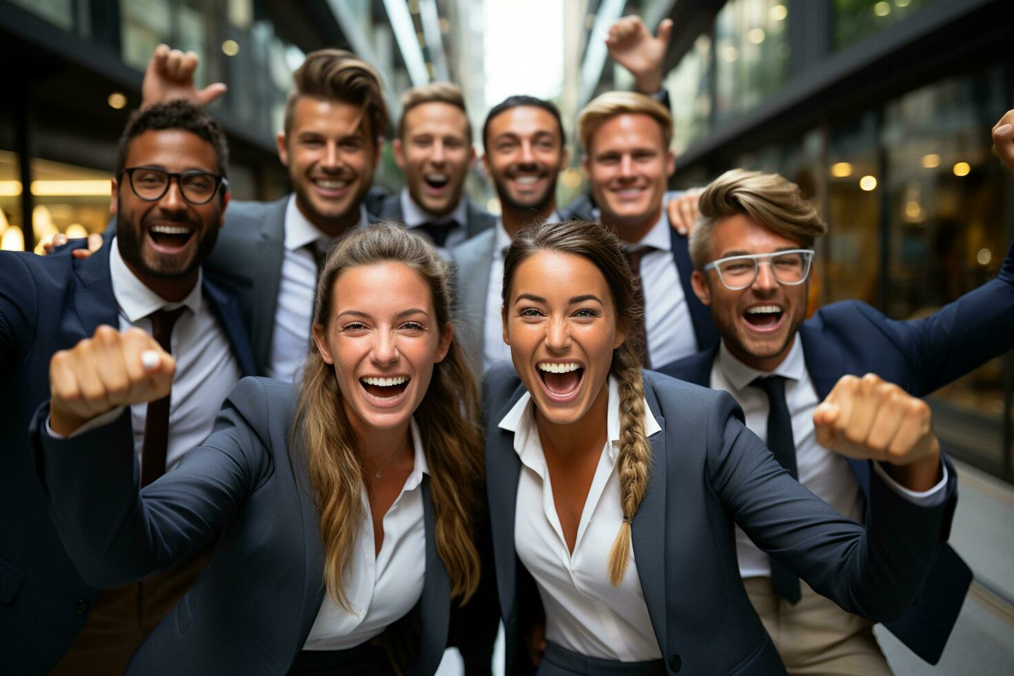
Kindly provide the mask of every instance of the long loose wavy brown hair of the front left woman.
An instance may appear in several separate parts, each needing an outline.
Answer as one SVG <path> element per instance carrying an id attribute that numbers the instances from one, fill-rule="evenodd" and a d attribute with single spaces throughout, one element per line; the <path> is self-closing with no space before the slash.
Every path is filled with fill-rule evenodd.
<path id="1" fill-rule="evenodd" d="M 433 295 L 441 333 L 450 319 L 451 289 L 447 264 L 418 235 L 391 223 L 357 230 L 332 249 L 320 271 L 313 322 L 325 328 L 333 314 L 335 287 L 352 268 L 401 262 L 423 278 Z M 437 552 L 447 569 L 451 594 L 466 601 L 479 584 L 479 552 L 473 514 L 479 511 L 482 485 L 482 432 L 476 382 L 461 346 L 451 339 L 447 356 L 433 366 L 433 379 L 414 416 L 429 466 L 436 522 Z M 315 348 L 303 368 L 293 435 L 306 463 L 323 542 L 323 579 L 341 608 L 350 609 L 342 586 L 362 517 L 360 496 L 366 485 L 362 459 L 342 404 L 335 367 Z"/>

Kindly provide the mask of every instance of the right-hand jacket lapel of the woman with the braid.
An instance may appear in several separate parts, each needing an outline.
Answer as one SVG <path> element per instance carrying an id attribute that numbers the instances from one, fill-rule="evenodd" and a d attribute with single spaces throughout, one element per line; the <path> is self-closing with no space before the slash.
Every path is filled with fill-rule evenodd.
<path id="1" fill-rule="evenodd" d="M 637 514 L 634 515 L 631 526 L 634 561 L 637 565 L 638 577 L 641 579 L 641 590 L 644 592 L 644 600 L 648 606 L 652 628 L 655 630 L 655 639 L 664 653 L 667 644 L 665 606 L 668 599 L 665 590 L 665 485 L 667 482 L 665 419 L 662 418 L 654 390 L 645 387 L 645 397 L 648 399 L 648 407 L 651 409 L 652 416 L 655 417 L 655 421 L 662 429 L 649 438 L 651 442 L 651 470 L 648 473 L 648 491 L 641 501 Z M 497 564 L 499 565 L 499 561 Z"/>

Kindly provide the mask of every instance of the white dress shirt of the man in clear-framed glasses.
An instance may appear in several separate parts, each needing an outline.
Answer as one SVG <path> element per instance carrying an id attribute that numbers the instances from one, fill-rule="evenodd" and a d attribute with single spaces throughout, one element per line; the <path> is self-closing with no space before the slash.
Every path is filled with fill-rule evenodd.
<path id="1" fill-rule="evenodd" d="M 834 507 L 842 516 L 862 523 L 865 500 L 848 460 L 816 441 L 813 411 L 820 403 L 820 399 L 806 370 L 802 341 L 798 337 L 794 340 L 789 354 L 770 373 L 743 364 L 732 356 L 723 341 L 711 368 L 711 386 L 732 394 L 746 416 L 746 427 L 767 444 L 768 411 L 771 405 L 764 390 L 751 386 L 750 383 L 756 378 L 770 375 L 779 375 L 786 379 L 785 400 L 792 417 L 792 439 L 796 443 L 796 469 L 799 472 L 799 482 Z M 888 486 L 917 505 L 925 507 L 939 505 L 946 497 L 944 492 L 947 485 L 946 466 L 940 482 L 924 493 L 910 491 L 900 485 L 878 462 L 873 463 L 873 469 Z M 736 554 L 739 557 L 739 574 L 742 577 L 771 576 L 771 559 L 768 554 L 758 549 L 739 526 L 736 526 Z"/>

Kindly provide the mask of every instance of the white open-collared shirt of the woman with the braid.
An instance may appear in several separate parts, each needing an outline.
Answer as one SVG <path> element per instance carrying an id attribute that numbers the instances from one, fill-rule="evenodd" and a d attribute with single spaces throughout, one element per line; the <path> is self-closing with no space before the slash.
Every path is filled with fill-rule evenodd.
<path id="1" fill-rule="evenodd" d="M 607 562 L 623 524 L 620 478 L 620 392 L 609 378 L 607 440 L 581 513 L 574 551 L 564 539 L 534 403 L 525 392 L 500 421 L 514 433 L 521 459 L 515 507 L 514 546 L 535 580 L 546 609 L 546 637 L 568 650 L 606 660 L 637 662 L 662 657 L 641 590 L 633 547 L 620 586 L 609 583 Z M 645 401 L 645 433 L 661 428 Z"/>

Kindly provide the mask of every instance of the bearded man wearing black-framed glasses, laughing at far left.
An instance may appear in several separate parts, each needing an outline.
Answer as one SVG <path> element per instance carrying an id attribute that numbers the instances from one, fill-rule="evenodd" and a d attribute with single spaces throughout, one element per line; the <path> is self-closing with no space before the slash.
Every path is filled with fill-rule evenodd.
<path id="1" fill-rule="evenodd" d="M 86 585 L 33 475 L 28 429 L 46 424 L 37 410 L 55 354 L 82 343 L 102 354 L 118 330 L 149 333 L 175 358 L 171 393 L 104 420 L 134 440 L 144 486 L 211 433 L 225 395 L 255 374 L 238 301 L 202 270 L 229 200 L 227 152 L 218 124 L 190 103 L 135 112 L 120 141 L 112 245 L 89 257 L 0 252 L 0 673 L 123 673 L 207 562 Z"/>

